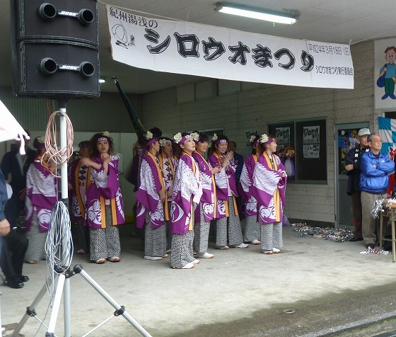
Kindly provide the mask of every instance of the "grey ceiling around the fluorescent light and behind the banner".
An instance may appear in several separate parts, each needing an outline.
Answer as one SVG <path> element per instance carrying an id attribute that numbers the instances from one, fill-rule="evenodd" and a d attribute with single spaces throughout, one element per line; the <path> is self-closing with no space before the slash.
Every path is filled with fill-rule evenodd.
<path id="1" fill-rule="evenodd" d="M 50 0 L 46 0 L 51 2 Z M 78 1 L 78 0 L 76 0 Z M 43 1 L 45 2 L 45 1 Z M 238 18 L 214 11 L 216 0 L 105 0 L 98 1 L 100 26 L 100 76 L 107 82 L 101 91 L 116 92 L 112 76 L 116 76 L 128 93 L 149 93 L 171 86 L 203 79 L 197 76 L 151 72 L 115 62 L 110 54 L 110 40 L 105 4 L 132 11 L 155 14 L 182 21 L 233 28 L 251 33 L 282 38 L 320 42 L 356 43 L 396 35 L 395 0 L 230 0 L 272 11 L 298 13 L 294 25 L 265 23 Z M 0 21 L 0 86 L 11 86 L 11 53 L 9 48 L 10 1 L 0 0 L 3 15 Z M 145 16 L 149 16 L 145 14 Z"/>

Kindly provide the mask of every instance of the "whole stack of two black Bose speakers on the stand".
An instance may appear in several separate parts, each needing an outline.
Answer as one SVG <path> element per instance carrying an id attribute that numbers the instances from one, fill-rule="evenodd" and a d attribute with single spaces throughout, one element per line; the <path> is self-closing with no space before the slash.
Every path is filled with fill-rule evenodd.
<path id="1" fill-rule="evenodd" d="M 94 98 L 99 90 L 96 0 L 11 0 L 13 91 Z"/>

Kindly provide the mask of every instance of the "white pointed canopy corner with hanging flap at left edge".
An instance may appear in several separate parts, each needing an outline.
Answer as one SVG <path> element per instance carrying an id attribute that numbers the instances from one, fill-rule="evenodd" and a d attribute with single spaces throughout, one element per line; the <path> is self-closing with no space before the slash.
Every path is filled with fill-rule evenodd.
<path id="1" fill-rule="evenodd" d="M 23 127 L 0 101 L 0 142 L 16 139 L 21 141 L 21 154 L 25 154 L 25 139 L 30 139 Z M 25 137 L 25 139 L 23 138 Z"/>

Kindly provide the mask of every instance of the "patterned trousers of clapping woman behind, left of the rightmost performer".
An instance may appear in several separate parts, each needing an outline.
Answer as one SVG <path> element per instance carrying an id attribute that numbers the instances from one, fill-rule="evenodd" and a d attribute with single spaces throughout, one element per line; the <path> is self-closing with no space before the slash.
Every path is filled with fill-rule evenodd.
<path id="1" fill-rule="evenodd" d="M 228 243 L 231 245 L 242 244 L 242 229 L 240 228 L 240 219 L 235 215 L 233 197 L 228 197 L 229 217 L 216 219 L 216 246 L 227 246 L 227 229 Z"/>

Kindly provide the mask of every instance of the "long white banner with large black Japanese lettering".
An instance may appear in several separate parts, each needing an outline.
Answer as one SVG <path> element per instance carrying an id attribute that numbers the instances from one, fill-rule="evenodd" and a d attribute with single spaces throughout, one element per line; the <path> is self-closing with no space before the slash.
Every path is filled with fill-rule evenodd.
<path id="1" fill-rule="evenodd" d="M 106 7 L 112 58 L 132 67 L 287 86 L 354 88 L 349 45 L 146 18 Z"/>

